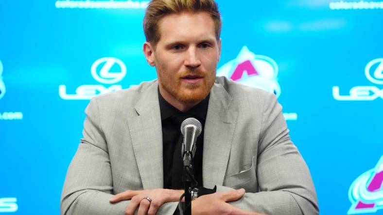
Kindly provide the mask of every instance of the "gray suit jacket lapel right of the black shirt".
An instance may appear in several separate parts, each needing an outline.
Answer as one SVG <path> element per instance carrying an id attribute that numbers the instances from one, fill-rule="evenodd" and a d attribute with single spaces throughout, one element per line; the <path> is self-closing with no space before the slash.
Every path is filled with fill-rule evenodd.
<path id="1" fill-rule="evenodd" d="M 214 84 L 210 91 L 209 107 L 204 130 L 203 183 L 204 187 L 224 183 L 227 162 L 237 121 L 237 107 L 224 87 Z"/>

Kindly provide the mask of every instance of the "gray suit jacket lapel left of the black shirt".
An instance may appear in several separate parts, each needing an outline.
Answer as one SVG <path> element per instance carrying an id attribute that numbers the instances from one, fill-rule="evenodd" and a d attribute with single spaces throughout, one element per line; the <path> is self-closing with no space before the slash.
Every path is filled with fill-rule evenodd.
<path id="1" fill-rule="evenodd" d="M 162 126 L 154 82 L 135 106 L 138 116 L 128 119 L 133 150 L 143 189 L 163 187 Z"/>

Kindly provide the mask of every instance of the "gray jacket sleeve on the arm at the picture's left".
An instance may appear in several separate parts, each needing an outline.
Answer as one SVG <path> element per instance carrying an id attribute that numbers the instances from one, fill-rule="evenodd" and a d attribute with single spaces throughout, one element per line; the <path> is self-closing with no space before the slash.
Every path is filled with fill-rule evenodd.
<path id="1" fill-rule="evenodd" d="M 85 112 L 84 138 L 67 172 L 61 195 L 61 214 L 123 215 L 129 200 L 109 203 L 113 196 L 112 172 L 96 100 L 90 101 Z M 177 203 L 163 204 L 157 214 L 173 214 Z"/>

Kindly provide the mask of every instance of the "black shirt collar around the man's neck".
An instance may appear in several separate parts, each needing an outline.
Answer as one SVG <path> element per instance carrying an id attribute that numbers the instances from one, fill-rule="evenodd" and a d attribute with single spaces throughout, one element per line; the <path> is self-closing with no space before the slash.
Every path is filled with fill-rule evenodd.
<path id="1" fill-rule="evenodd" d="M 194 107 L 191 107 L 190 110 L 185 112 L 185 114 L 189 114 L 192 116 L 195 116 L 199 118 L 200 120 L 206 120 L 206 115 L 208 113 L 208 106 L 209 106 L 209 97 L 210 93 L 204 100 L 202 100 L 200 103 L 195 105 Z M 161 113 L 161 121 L 166 120 L 169 117 L 172 117 L 176 114 L 182 114 L 180 110 L 169 104 L 161 95 L 158 89 L 158 101 L 159 101 L 159 110 Z"/>

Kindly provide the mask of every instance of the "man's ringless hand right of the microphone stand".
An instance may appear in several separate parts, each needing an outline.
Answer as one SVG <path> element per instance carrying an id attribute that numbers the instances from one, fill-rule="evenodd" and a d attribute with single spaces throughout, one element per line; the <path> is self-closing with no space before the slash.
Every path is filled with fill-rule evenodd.
<path id="1" fill-rule="evenodd" d="M 226 202 L 239 200 L 244 196 L 244 188 L 239 190 L 216 192 L 198 197 L 191 202 L 192 215 L 261 215 L 244 211 Z"/>

